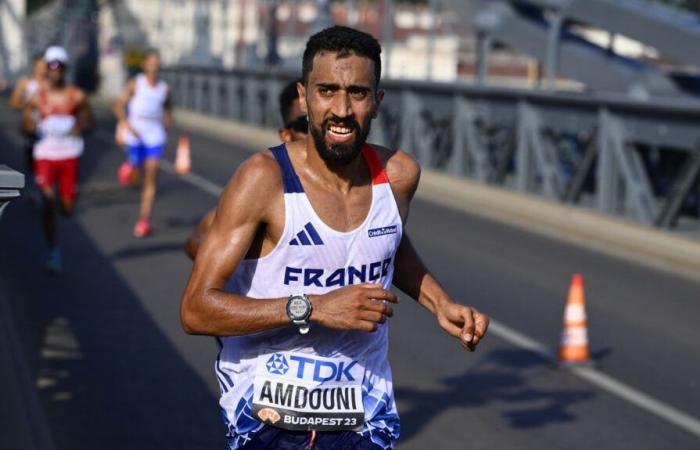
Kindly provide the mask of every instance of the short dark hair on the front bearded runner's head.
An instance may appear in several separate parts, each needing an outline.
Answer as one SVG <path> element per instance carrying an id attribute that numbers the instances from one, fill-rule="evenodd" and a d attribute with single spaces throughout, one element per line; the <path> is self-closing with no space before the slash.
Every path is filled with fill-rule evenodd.
<path id="1" fill-rule="evenodd" d="M 382 75 L 382 60 L 380 58 L 382 47 L 379 42 L 371 34 L 339 25 L 319 31 L 311 36 L 306 43 L 301 72 L 304 85 L 309 82 L 309 73 L 313 69 L 314 57 L 324 51 L 337 53 L 338 58 L 355 54 L 371 59 L 374 63 L 374 84 L 375 86 L 379 85 L 379 78 Z"/>

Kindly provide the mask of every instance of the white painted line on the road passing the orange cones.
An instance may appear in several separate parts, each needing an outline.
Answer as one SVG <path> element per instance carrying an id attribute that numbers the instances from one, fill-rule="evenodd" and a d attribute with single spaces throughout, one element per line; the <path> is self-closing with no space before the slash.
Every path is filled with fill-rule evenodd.
<path id="1" fill-rule="evenodd" d="M 102 133 L 99 134 L 100 137 L 103 137 L 101 135 Z M 109 139 L 112 139 L 111 136 Z M 175 167 L 170 161 L 162 159 L 161 168 L 167 173 L 176 174 Z M 190 183 L 192 186 L 213 195 L 214 197 L 219 197 L 224 189 L 223 186 L 219 186 L 218 184 L 195 173 L 190 172 L 186 175 L 180 175 L 180 178 L 183 181 Z M 550 362 L 556 363 L 557 361 L 556 356 L 547 348 L 547 346 L 498 321 L 491 319 L 489 332 L 516 347 L 536 353 Z M 588 381 L 600 389 L 603 389 L 604 391 L 607 391 L 608 393 L 613 394 L 627 401 L 628 403 L 643 409 L 662 420 L 665 420 L 668 423 L 676 425 L 677 427 L 700 437 L 700 420 L 698 418 L 674 408 L 673 406 L 660 400 L 657 400 L 592 367 L 572 366 L 567 367 L 567 370 L 571 374 Z"/>

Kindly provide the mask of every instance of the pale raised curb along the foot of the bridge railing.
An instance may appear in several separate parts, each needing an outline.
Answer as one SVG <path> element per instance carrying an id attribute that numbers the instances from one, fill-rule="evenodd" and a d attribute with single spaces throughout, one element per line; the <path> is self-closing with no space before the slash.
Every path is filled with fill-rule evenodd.
<path id="1" fill-rule="evenodd" d="M 185 128 L 263 149 L 279 143 L 273 130 L 178 109 Z M 595 249 L 700 281 L 700 242 L 580 207 L 423 170 L 417 197 L 507 225 Z"/>

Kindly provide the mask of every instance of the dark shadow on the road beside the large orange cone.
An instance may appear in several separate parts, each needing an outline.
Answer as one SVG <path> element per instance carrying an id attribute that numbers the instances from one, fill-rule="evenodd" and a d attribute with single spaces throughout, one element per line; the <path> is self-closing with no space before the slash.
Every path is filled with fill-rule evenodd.
<path id="1" fill-rule="evenodd" d="M 501 415 L 512 428 L 529 429 L 553 423 L 572 422 L 570 407 L 591 400 L 589 390 L 546 389 L 530 385 L 525 371 L 541 369 L 550 363 L 524 350 L 494 350 L 487 353 L 479 368 L 440 380 L 441 390 L 397 387 L 396 397 L 403 405 L 401 441 L 407 442 L 436 417 L 450 408 L 478 408 L 503 405 Z M 532 377 L 530 377 L 532 378 Z"/>

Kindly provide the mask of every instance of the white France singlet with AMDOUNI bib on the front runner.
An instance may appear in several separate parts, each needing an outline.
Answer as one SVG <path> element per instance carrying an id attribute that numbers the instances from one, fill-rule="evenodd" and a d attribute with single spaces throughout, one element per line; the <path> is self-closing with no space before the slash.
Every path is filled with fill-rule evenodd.
<path id="1" fill-rule="evenodd" d="M 285 226 L 272 252 L 244 260 L 227 290 L 251 298 L 324 294 L 351 284 L 390 289 L 403 227 L 381 160 L 362 149 L 372 176 L 364 222 L 340 232 L 316 214 L 283 144 L 270 149 L 284 178 Z M 345 429 L 393 448 L 399 437 L 388 360 L 389 325 L 374 333 L 311 324 L 218 338 L 216 375 L 231 449 L 267 422 L 286 429 Z M 359 417 L 359 419 L 358 419 Z"/>

